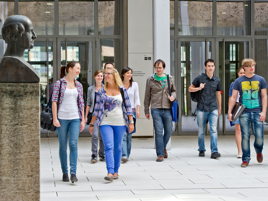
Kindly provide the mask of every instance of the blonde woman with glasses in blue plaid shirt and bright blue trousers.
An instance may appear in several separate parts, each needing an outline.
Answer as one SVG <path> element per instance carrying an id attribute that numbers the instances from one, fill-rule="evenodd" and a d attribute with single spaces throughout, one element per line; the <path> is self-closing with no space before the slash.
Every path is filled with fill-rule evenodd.
<path id="1" fill-rule="evenodd" d="M 107 67 L 104 74 L 105 85 L 96 95 L 96 103 L 89 132 L 94 130 L 97 121 L 105 147 L 105 161 L 108 171 L 105 180 L 118 179 L 122 156 L 122 139 L 126 128 L 134 130 L 133 112 L 127 90 L 123 87 L 115 68 Z"/>

